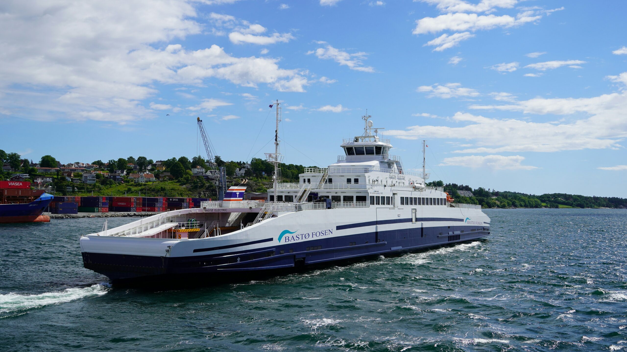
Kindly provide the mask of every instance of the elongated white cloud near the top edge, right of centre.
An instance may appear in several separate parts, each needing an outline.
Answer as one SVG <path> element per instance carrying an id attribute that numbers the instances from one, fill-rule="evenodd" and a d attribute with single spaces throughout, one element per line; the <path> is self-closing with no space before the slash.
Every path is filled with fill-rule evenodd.
<path id="1" fill-rule="evenodd" d="M 475 13 L 447 13 L 438 17 L 425 17 L 416 21 L 413 34 L 439 33 L 441 31 L 479 31 L 497 27 L 514 27 L 533 22 L 542 16 L 478 15 Z"/>

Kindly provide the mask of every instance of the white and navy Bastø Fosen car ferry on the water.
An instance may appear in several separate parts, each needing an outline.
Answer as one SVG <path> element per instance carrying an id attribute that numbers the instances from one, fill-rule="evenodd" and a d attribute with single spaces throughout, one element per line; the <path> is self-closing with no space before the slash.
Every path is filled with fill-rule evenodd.
<path id="1" fill-rule="evenodd" d="M 427 187 L 424 167 L 421 174 L 404 171 L 369 117 L 362 135 L 344 140 L 336 163 L 305 168 L 298 183 L 275 178 L 265 201 L 243 200 L 244 187 L 236 186 L 223 201 L 81 237 L 85 267 L 114 283 L 204 281 L 402 254 L 490 234 L 490 218 L 480 206 L 457 204 L 441 187 Z M 277 130 L 278 121 L 277 112 Z M 275 146 L 268 160 L 277 166 L 278 138 Z"/>

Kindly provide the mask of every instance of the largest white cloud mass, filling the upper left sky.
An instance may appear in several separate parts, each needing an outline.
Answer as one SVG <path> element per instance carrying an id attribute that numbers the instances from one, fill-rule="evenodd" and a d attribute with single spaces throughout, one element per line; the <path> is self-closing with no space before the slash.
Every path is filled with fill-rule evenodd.
<path id="1" fill-rule="evenodd" d="M 276 59 L 240 58 L 216 45 L 191 51 L 177 43 L 201 33 L 194 4 L 15 1 L 5 6 L 0 88 L 17 88 L 1 96 L 0 105 L 26 118 L 129 123 L 155 116 L 140 101 L 159 93 L 157 83 L 198 86 L 211 79 L 303 91 L 307 79 L 298 70 L 279 68 Z M 232 21 L 228 15 L 214 17 Z M 22 87 L 36 87 L 36 94 Z"/>

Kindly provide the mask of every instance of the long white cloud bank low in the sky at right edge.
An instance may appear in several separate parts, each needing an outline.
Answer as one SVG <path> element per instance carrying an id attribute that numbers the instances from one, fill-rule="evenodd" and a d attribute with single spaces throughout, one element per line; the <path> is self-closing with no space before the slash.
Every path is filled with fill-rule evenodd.
<path id="1" fill-rule="evenodd" d="M 627 82 L 627 73 L 623 73 Z M 623 75 L 621 74 L 621 75 Z M 616 76 L 616 80 L 623 82 Z M 473 140 L 475 148 L 456 153 L 558 152 L 561 150 L 621 148 L 627 138 L 627 91 L 592 98 L 534 98 L 509 105 L 472 105 L 478 110 L 522 111 L 536 115 L 574 115 L 587 118 L 566 122 L 532 122 L 514 118 L 486 118 L 458 112 L 454 122 L 472 122 L 463 127 L 412 126 L 385 131 L 386 135 L 415 140 L 421 137 Z"/>

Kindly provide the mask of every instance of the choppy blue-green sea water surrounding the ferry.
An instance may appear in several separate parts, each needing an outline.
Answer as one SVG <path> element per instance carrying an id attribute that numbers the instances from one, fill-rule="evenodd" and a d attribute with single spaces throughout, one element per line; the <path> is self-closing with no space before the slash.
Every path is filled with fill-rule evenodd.
<path id="1" fill-rule="evenodd" d="M 627 351 L 627 210 L 485 212 L 485 241 L 167 291 L 82 267 L 102 219 L 0 225 L 0 350 Z"/>

